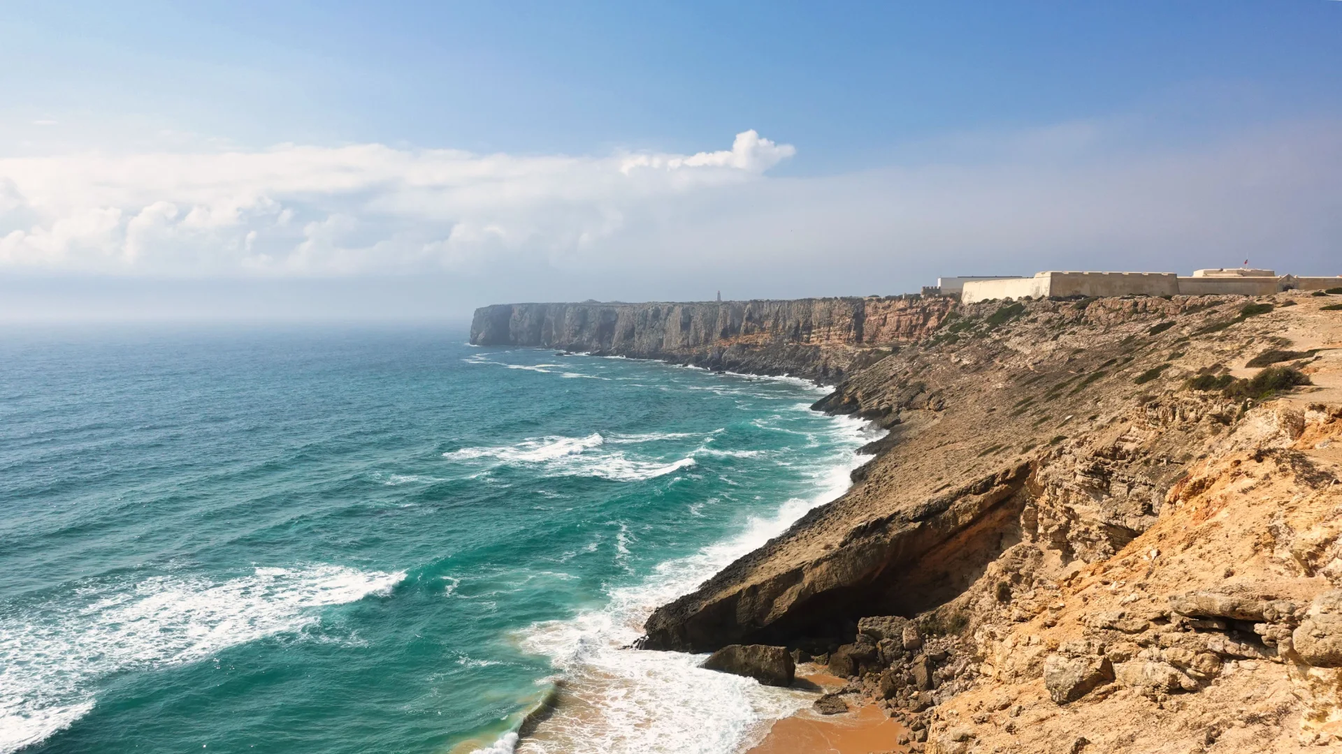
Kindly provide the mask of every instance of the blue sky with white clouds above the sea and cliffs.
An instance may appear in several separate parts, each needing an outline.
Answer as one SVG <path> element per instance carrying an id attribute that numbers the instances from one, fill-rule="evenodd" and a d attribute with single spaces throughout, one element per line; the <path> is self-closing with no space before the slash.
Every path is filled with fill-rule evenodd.
<path id="1" fill-rule="evenodd" d="M 1342 1 L 0 4 L 0 321 L 1342 274 Z"/>

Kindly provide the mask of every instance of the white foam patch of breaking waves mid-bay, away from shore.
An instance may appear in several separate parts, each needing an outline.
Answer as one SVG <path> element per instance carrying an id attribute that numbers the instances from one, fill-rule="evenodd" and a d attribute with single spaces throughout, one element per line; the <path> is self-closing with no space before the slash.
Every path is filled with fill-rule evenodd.
<path id="1" fill-rule="evenodd" d="M 615 440 L 625 441 L 625 440 Z M 596 476 L 616 482 L 640 482 L 694 466 L 694 457 L 631 459 L 624 451 L 588 452 L 607 443 L 593 432 L 585 437 L 535 437 L 513 445 L 462 448 L 443 453 L 458 462 L 486 460 L 502 464 L 539 466 L 544 476 Z"/>

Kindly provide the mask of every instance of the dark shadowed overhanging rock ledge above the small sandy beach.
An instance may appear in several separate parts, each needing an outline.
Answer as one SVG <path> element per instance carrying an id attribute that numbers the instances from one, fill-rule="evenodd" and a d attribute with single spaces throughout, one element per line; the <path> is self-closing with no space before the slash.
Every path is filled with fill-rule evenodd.
<path id="1" fill-rule="evenodd" d="M 1020 541 L 1021 490 L 1029 464 L 1017 464 L 892 515 L 866 521 L 840 547 L 801 568 L 714 594 L 768 557 L 769 545 L 741 558 L 648 618 L 646 649 L 706 652 L 725 644 L 786 643 L 798 636 L 851 637 L 862 617 L 915 614 L 972 584 L 993 558 Z M 809 519 L 793 530 L 805 529 Z M 788 537 L 785 534 L 784 537 Z"/>

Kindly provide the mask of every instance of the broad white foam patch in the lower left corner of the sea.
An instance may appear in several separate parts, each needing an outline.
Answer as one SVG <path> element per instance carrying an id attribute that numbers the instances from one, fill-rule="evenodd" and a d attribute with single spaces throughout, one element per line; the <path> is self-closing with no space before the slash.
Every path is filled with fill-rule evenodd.
<path id="1" fill-rule="evenodd" d="M 0 605 L 0 753 L 93 710 L 101 679 L 191 663 L 318 623 L 315 609 L 389 594 L 405 573 L 258 568 L 224 582 L 160 576 L 62 604 Z"/>

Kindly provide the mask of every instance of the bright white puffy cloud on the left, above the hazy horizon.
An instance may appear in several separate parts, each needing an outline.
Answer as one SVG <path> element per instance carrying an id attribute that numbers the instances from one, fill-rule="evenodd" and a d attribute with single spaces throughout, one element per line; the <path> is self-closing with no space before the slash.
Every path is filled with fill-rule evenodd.
<path id="1" fill-rule="evenodd" d="M 692 156 L 372 144 L 0 160 L 0 267 L 342 275 L 456 268 L 486 252 L 565 259 L 617 233 L 629 205 L 760 180 L 793 152 L 752 130 Z"/>

